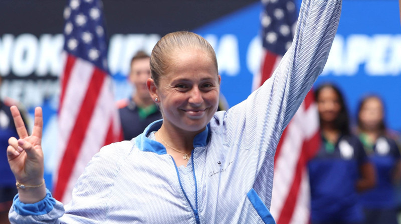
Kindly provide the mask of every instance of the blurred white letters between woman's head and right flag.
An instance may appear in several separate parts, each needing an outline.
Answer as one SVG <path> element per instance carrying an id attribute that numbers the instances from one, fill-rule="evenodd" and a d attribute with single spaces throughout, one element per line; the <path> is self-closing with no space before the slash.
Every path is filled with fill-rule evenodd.
<path id="1" fill-rule="evenodd" d="M 215 34 L 208 34 L 205 39 L 209 41 L 215 49 L 219 73 L 226 73 L 229 76 L 238 75 L 240 72 L 240 53 L 238 38 L 234 34 L 225 34 L 218 38 Z"/>

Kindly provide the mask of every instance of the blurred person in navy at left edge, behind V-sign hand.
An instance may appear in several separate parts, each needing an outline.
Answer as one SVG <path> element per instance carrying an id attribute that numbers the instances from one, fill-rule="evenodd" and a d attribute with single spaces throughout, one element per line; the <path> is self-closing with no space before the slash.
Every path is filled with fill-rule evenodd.
<path id="1" fill-rule="evenodd" d="M 0 85 L 1 82 L 2 79 L 0 76 Z M 17 104 L 16 101 L 10 98 L 0 100 L 0 223 L 2 224 L 10 223 L 9 210 L 13 203 L 13 198 L 18 192 L 16 179 L 10 169 L 6 152 L 9 146 L 9 138 L 12 136 L 18 138 L 13 116 L 10 111 L 10 106 Z M 19 108 L 21 111 L 24 111 L 21 106 L 19 106 Z"/>

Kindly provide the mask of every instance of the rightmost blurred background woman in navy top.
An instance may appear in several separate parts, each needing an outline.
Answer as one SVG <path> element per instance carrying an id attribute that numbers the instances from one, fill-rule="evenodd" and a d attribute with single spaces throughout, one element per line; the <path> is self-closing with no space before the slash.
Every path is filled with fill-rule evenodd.
<path id="1" fill-rule="evenodd" d="M 361 195 L 367 224 L 396 224 L 394 183 L 401 179 L 401 156 L 384 123 L 384 106 L 375 95 L 358 107 L 358 134 L 376 169 L 377 185 Z"/>

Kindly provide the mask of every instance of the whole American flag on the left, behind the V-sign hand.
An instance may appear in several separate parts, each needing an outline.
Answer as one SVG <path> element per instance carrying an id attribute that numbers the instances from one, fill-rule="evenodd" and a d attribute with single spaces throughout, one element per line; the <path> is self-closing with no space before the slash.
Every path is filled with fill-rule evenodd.
<path id="1" fill-rule="evenodd" d="M 100 0 L 70 0 L 64 9 L 65 66 L 60 80 L 59 145 L 53 195 L 66 203 L 86 164 L 121 139 Z"/>

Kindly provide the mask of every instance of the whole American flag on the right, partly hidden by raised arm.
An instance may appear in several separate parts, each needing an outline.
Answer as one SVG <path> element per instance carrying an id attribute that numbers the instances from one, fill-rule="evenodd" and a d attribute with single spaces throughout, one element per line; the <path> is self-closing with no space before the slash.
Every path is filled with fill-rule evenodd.
<path id="1" fill-rule="evenodd" d="M 263 58 L 256 89 L 266 81 L 291 46 L 297 10 L 293 0 L 262 0 Z M 300 108 L 281 135 L 274 158 L 271 213 L 277 224 L 309 223 L 310 189 L 307 161 L 320 142 L 317 105 L 309 91 Z"/>

